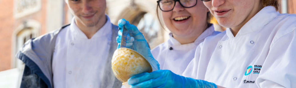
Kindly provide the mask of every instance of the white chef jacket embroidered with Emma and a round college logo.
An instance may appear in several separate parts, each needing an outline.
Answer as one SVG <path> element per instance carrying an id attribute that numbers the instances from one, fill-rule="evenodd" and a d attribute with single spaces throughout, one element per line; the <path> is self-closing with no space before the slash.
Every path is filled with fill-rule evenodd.
<path id="1" fill-rule="evenodd" d="M 296 88 L 296 15 L 266 6 L 237 33 L 205 39 L 183 75 L 227 88 Z"/>

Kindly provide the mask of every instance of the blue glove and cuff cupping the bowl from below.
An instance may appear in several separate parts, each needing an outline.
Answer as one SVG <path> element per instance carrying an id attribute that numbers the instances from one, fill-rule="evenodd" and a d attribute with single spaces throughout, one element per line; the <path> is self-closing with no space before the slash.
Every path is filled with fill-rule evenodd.
<path id="1" fill-rule="evenodd" d="M 204 80 L 176 75 L 170 70 L 144 72 L 128 79 L 130 88 L 217 88 L 217 85 Z"/>

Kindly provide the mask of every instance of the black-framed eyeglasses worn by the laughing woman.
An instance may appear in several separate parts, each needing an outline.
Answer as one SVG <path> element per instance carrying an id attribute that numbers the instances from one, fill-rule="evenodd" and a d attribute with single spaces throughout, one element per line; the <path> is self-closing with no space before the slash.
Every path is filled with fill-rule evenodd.
<path id="1" fill-rule="evenodd" d="M 157 4 L 161 11 L 167 12 L 174 9 L 177 1 L 184 8 L 190 8 L 197 4 L 197 0 L 158 0 Z M 201 1 L 210 1 L 210 0 L 201 0 Z"/>

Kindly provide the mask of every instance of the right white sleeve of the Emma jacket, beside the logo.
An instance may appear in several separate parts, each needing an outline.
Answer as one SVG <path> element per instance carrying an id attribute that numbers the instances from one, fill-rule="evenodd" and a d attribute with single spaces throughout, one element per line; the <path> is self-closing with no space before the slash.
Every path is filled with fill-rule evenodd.
<path id="1" fill-rule="evenodd" d="M 271 43 L 256 83 L 259 88 L 296 88 L 295 29 Z"/>

